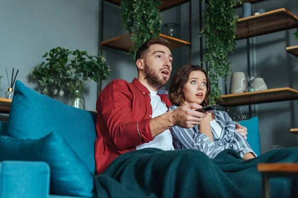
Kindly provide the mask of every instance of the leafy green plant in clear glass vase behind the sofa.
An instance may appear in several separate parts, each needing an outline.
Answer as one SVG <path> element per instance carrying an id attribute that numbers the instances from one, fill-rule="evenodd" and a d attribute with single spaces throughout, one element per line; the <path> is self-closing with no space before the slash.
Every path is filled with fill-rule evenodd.
<path id="1" fill-rule="evenodd" d="M 57 47 L 42 57 L 46 61 L 33 68 L 32 76 L 43 87 L 43 93 L 64 96 L 68 90 L 69 104 L 77 108 L 85 108 L 82 91 L 89 81 L 98 83 L 99 79 L 106 80 L 111 75 L 105 58 L 87 51 Z"/>

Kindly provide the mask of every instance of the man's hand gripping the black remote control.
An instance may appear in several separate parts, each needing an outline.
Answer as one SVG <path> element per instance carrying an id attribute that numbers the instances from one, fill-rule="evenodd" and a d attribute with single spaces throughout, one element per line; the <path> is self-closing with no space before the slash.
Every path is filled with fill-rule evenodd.
<path id="1" fill-rule="evenodd" d="M 193 109 L 200 109 L 201 105 L 197 103 L 187 103 L 179 106 L 176 110 L 172 111 L 172 123 L 174 126 L 182 128 L 192 128 L 200 124 L 204 117 L 208 114 L 199 112 Z"/>

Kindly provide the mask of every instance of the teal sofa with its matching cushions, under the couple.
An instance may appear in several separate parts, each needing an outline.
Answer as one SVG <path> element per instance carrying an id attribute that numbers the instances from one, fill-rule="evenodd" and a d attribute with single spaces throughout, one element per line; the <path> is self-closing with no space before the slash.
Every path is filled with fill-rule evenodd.
<path id="1" fill-rule="evenodd" d="M 95 112 L 16 81 L 8 122 L 0 122 L 0 198 L 96 197 L 95 122 Z M 259 155 L 258 118 L 240 124 Z"/>

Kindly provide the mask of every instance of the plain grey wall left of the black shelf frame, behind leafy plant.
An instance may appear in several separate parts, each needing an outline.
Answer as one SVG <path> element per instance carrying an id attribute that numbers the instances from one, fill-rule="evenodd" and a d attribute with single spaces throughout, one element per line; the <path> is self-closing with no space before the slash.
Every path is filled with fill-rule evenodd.
<path id="1" fill-rule="evenodd" d="M 61 46 L 98 52 L 98 0 L 0 0 L 0 5 L 1 98 L 8 88 L 5 69 L 9 79 L 12 68 L 19 69 L 17 80 L 38 90 L 28 75 L 46 51 Z M 86 109 L 95 110 L 95 82 L 84 97 Z"/>

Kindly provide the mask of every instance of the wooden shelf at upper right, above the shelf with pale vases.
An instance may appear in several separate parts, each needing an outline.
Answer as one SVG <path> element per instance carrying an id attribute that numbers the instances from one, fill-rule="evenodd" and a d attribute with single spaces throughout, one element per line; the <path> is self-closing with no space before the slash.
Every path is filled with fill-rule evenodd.
<path id="1" fill-rule="evenodd" d="M 245 39 L 298 27 L 298 17 L 280 8 L 259 15 L 238 19 L 236 34 Z"/>

